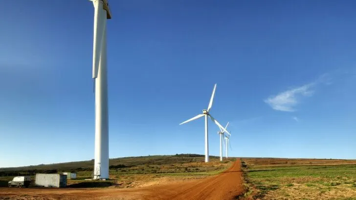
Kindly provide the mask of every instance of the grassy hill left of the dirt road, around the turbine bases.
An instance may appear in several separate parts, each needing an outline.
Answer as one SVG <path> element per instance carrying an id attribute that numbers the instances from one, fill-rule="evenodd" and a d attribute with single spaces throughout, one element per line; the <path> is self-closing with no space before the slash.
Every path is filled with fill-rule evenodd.
<path id="1" fill-rule="evenodd" d="M 68 180 L 67 187 L 107 187 L 119 188 L 145 186 L 176 180 L 201 179 L 215 175 L 231 166 L 234 158 L 224 159 L 210 156 L 210 162 L 204 162 L 204 156 L 198 154 L 177 154 L 170 156 L 141 156 L 110 159 L 110 180 L 91 181 L 94 160 L 40 164 L 25 167 L 0 168 L 0 187 L 14 176 L 31 176 L 36 173 L 76 172 L 77 180 Z"/>

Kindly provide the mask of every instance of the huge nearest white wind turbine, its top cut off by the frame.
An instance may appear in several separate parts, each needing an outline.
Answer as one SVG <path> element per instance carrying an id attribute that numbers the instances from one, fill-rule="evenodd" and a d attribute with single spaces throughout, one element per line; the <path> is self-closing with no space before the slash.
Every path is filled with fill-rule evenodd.
<path id="1" fill-rule="evenodd" d="M 109 115 L 106 61 L 106 20 L 111 19 L 108 0 L 90 0 L 94 5 L 92 78 L 95 94 L 95 156 L 93 179 L 109 179 Z"/>

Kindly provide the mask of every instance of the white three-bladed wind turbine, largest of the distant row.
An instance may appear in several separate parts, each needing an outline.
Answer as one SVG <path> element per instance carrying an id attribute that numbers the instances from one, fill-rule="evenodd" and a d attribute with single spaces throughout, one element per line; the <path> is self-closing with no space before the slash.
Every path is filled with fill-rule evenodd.
<path id="1" fill-rule="evenodd" d="M 211 120 L 213 120 L 218 126 L 219 128 L 221 128 L 222 130 L 224 130 L 226 133 L 229 133 L 228 131 L 225 130 L 225 128 L 217 121 L 213 118 L 213 116 L 211 116 L 209 114 L 209 111 L 211 109 L 211 106 L 213 105 L 213 99 L 214 99 L 214 95 L 215 95 L 215 89 L 216 89 L 216 83 L 214 85 L 214 89 L 213 89 L 213 94 L 211 95 L 211 98 L 210 98 L 210 102 L 209 102 L 209 105 L 208 105 L 208 109 L 207 110 L 203 110 L 203 113 L 202 114 L 199 114 L 189 120 L 186 120 L 186 121 L 183 121 L 181 122 L 179 125 L 183 124 L 183 123 L 187 123 L 189 121 L 193 121 L 193 120 L 196 120 L 198 118 L 201 118 L 203 116 L 205 116 L 205 162 L 209 162 L 209 144 L 208 144 L 208 116 Z"/>

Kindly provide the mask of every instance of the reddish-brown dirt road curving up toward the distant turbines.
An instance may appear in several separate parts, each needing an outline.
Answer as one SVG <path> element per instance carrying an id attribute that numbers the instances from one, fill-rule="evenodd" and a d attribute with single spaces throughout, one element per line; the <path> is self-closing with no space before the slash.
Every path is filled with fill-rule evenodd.
<path id="1" fill-rule="evenodd" d="M 128 189 L 0 188 L 0 200 L 230 200 L 243 193 L 241 161 L 201 180 Z"/>

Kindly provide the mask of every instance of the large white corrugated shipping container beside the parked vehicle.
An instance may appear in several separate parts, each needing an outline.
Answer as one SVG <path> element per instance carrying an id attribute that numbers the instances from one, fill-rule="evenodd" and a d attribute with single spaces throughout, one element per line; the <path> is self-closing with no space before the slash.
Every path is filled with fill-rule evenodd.
<path id="1" fill-rule="evenodd" d="M 36 174 L 35 185 L 42 187 L 67 187 L 67 175 Z"/>

